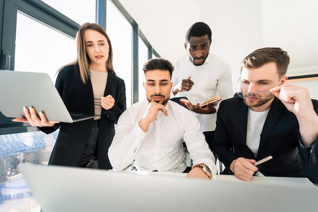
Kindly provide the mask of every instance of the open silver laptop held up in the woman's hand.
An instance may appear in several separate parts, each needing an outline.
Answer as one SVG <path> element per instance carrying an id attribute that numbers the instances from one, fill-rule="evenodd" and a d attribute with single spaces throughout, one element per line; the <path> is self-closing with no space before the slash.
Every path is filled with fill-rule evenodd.
<path id="1" fill-rule="evenodd" d="M 24 117 L 23 106 L 33 106 L 48 120 L 73 123 L 97 117 L 70 113 L 46 73 L 0 70 L 0 112 L 7 117 Z"/>

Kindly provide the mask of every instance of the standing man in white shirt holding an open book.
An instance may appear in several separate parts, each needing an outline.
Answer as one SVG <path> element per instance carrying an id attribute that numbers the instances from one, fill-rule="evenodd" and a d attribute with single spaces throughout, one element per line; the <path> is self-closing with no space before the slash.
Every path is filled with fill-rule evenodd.
<path id="1" fill-rule="evenodd" d="M 174 63 L 171 98 L 186 97 L 198 103 L 186 104 L 198 118 L 206 141 L 212 149 L 218 106 L 200 107 L 199 103 L 219 96 L 222 100 L 233 97 L 230 66 L 221 58 L 209 52 L 212 43 L 210 27 L 203 22 L 190 26 L 185 36 L 184 48 L 187 54 Z"/>

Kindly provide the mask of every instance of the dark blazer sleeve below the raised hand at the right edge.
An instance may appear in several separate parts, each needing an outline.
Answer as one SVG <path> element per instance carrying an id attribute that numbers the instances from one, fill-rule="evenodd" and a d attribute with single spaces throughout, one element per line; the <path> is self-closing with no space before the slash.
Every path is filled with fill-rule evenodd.
<path id="1" fill-rule="evenodd" d="M 299 155 L 308 179 L 318 184 L 318 137 L 311 148 L 299 146 Z"/>

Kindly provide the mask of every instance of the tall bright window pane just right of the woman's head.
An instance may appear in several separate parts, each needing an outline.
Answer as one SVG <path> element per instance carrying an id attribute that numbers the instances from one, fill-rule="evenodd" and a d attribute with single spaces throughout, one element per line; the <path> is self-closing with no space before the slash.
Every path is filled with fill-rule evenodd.
<path id="1" fill-rule="evenodd" d="M 106 32 L 113 47 L 115 73 L 125 81 L 126 103 L 132 104 L 132 25 L 107 1 Z"/>

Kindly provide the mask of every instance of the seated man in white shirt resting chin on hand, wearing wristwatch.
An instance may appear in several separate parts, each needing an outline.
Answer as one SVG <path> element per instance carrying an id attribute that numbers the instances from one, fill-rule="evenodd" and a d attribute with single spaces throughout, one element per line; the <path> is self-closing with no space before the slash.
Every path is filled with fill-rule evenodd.
<path id="1" fill-rule="evenodd" d="M 182 142 L 193 167 L 187 177 L 212 178 L 215 158 L 205 141 L 198 119 L 189 110 L 169 101 L 172 64 L 163 58 L 144 65 L 146 99 L 119 117 L 108 150 L 112 167 L 121 171 L 134 161 L 137 170 L 188 172 Z"/>

